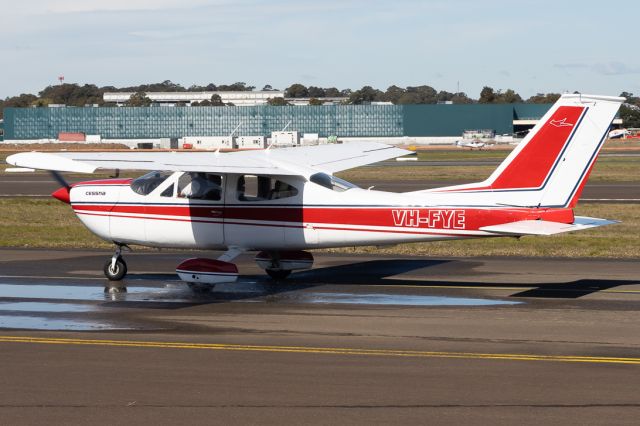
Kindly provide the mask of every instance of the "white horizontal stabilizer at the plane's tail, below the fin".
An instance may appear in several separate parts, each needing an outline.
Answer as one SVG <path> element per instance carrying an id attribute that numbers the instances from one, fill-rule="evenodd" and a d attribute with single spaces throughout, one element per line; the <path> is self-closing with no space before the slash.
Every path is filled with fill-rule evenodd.
<path id="1" fill-rule="evenodd" d="M 582 231 L 597 226 L 617 223 L 613 220 L 598 219 L 595 217 L 576 216 L 573 223 L 549 222 L 544 220 L 521 220 L 518 222 L 503 223 L 501 225 L 485 226 L 480 231 L 491 232 L 500 235 L 554 235 L 563 232 Z"/>

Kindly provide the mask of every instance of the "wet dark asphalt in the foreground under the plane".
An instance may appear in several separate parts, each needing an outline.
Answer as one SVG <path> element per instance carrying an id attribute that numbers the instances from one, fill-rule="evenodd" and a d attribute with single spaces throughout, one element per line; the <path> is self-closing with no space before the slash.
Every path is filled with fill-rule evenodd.
<path id="1" fill-rule="evenodd" d="M 0 250 L 0 422 L 638 423 L 637 261 L 247 255 L 194 293 L 194 255 L 105 287 L 107 252 Z"/>

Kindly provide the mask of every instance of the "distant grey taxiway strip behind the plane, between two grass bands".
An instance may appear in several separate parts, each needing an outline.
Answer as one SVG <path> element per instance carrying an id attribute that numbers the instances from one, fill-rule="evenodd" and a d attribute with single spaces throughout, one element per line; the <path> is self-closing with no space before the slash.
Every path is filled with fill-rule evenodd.
<path id="1" fill-rule="evenodd" d="M 392 163 L 393 164 L 393 163 Z M 465 163 L 466 164 L 466 163 Z M 72 177 L 70 182 L 90 178 Z M 382 191 L 408 192 L 438 188 L 449 185 L 469 183 L 469 181 L 397 181 L 359 180 L 355 184 L 362 188 L 374 187 Z M 11 174 L 0 173 L 0 197 L 48 197 L 60 186 L 47 174 Z M 640 184 L 638 182 L 587 182 L 582 200 L 585 202 L 640 203 Z"/>

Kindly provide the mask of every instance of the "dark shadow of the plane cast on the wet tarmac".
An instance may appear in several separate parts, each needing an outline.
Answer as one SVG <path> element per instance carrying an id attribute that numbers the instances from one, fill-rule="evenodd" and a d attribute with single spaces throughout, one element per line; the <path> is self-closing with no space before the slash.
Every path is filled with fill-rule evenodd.
<path id="1" fill-rule="evenodd" d="M 402 278 L 403 274 L 419 271 L 422 269 L 434 268 L 455 260 L 444 259 L 389 259 L 358 262 L 346 265 L 327 266 L 301 271 L 291 274 L 286 281 L 274 282 L 265 275 L 243 275 L 237 283 L 219 284 L 211 291 L 192 291 L 186 285 L 178 287 L 167 298 L 175 297 L 177 300 L 119 300 L 106 302 L 106 305 L 113 307 L 131 307 L 147 309 L 181 309 L 185 307 L 199 306 L 212 303 L 232 302 L 239 300 L 268 298 L 288 292 L 295 292 L 324 285 L 351 285 L 370 286 L 384 285 L 385 287 L 432 287 L 439 288 L 477 288 L 482 290 L 485 287 L 491 288 L 522 288 L 511 294 L 512 298 L 554 298 L 554 299 L 577 299 L 602 290 L 608 290 L 622 285 L 637 284 L 639 281 L 633 280 L 596 280 L 581 279 L 570 282 L 555 283 L 513 283 L 502 282 L 492 283 L 486 281 L 442 281 L 429 279 L 428 272 L 424 273 L 424 279 L 413 275 L 411 279 Z M 456 273 L 477 275 L 473 268 L 480 262 L 465 261 L 456 268 Z M 164 280 L 175 281 L 175 274 L 130 274 L 128 277 L 130 285 L 138 285 L 136 281 L 144 280 Z M 135 283 L 135 284 L 134 284 Z M 220 286 L 224 286 L 221 289 Z M 237 288 L 237 290 L 236 290 Z M 267 299 L 268 302 L 268 299 Z"/>

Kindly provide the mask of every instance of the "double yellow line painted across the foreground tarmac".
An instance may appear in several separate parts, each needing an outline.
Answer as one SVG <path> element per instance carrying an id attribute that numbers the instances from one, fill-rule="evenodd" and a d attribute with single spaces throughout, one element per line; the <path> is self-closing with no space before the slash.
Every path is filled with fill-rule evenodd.
<path id="1" fill-rule="evenodd" d="M 550 361 L 550 362 L 582 362 L 594 364 L 627 364 L 640 365 L 640 358 L 599 357 L 578 355 L 536 355 L 506 353 L 473 353 L 473 352 L 440 352 L 440 351 L 404 351 L 393 349 L 358 349 L 358 348 L 322 348 L 305 346 L 267 346 L 239 345 L 226 343 L 188 343 L 188 342 L 153 342 L 135 340 L 93 340 L 66 339 L 27 336 L 0 336 L 0 343 L 35 343 L 70 346 L 110 346 L 132 348 L 166 348 L 166 349 L 205 349 L 221 351 L 247 352 L 284 352 L 329 355 L 362 355 L 408 358 L 460 358 L 460 359 L 498 359 L 511 361 Z"/>

